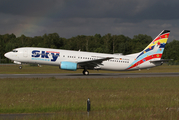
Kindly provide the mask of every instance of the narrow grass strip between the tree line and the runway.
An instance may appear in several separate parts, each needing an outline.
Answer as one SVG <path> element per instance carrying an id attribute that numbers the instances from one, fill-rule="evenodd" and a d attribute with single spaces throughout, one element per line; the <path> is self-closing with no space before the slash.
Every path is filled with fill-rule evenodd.
<path id="1" fill-rule="evenodd" d="M 82 69 L 77 71 L 66 71 L 59 69 L 58 66 L 42 65 L 42 67 L 23 65 L 20 70 L 19 65 L 0 65 L 0 74 L 48 74 L 48 73 L 82 73 Z M 179 72 L 179 65 L 168 66 L 166 64 L 149 70 L 144 69 L 141 71 L 103 71 L 103 70 L 90 70 L 90 73 L 155 73 L 155 72 Z"/>

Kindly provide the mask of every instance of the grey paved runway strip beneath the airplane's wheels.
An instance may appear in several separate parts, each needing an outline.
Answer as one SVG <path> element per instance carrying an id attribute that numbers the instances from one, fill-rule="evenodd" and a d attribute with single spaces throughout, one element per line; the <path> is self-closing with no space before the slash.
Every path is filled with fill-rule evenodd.
<path id="1" fill-rule="evenodd" d="M 175 77 L 179 73 L 91 73 L 74 74 L 0 74 L 0 78 L 134 78 L 134 77 Z"/>

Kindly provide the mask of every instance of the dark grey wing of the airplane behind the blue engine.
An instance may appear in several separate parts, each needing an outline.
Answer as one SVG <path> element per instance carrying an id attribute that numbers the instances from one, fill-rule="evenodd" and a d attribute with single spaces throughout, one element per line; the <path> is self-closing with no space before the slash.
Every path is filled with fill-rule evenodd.
<path id="1" fill-rule="evenodd" d="M 102 62 L 109 60 L 109 59 L 113 59 L 113 57 L 104 57 L 104 58 L 95 59 L 95 60 L 81 61 L 81 62 L 78 62 L 77 64 L 81 68 L 94 69 L 94 67 L 98 67 L 99 65 L 103 65 Z"/>

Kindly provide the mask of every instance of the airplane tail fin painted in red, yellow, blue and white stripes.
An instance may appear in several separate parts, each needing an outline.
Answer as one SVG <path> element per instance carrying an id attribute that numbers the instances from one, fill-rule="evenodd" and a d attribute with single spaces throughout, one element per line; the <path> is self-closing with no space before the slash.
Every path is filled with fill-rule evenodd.
<path id="1" fill-rule="evenodd" d="M 128 69 L 137 67 L 146 61 L 153 63 L 155 61 L 160 61 L 169 34 L 170 30 L 163 30 L 142 52 L 135 57 L 134 62 L 128 67 Z"/>

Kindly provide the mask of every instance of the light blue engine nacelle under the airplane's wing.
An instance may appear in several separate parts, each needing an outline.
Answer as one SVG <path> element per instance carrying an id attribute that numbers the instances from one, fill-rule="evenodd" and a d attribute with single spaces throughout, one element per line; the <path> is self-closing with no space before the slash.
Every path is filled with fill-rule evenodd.
<path id="1" fill-rule="evenodd" d="M 62 70 L 73 70 L 75 71 L 77 69 L 77 63 L 73 63 L 73 62 L 61 62 L 60 63 L 60 66 L 59 66 L 60 69 Z"/>

